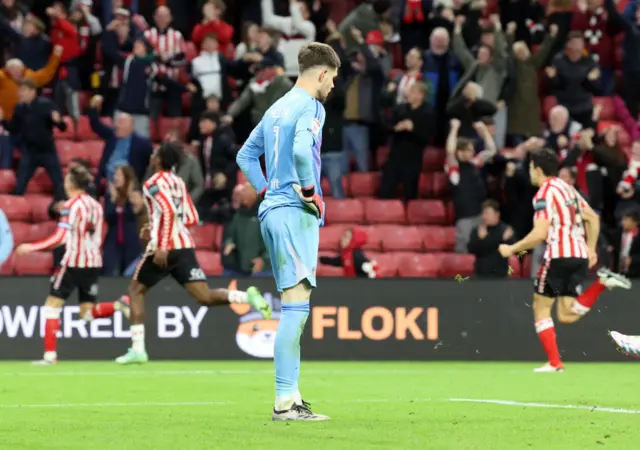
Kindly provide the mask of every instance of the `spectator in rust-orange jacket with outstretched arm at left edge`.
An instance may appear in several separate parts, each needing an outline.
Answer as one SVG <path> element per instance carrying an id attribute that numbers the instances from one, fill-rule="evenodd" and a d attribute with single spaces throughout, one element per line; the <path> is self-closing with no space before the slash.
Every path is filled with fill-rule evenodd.
<path id="1" fill-rule="evenodd" d="M 13 110 L 18 103 L 19 83 L 30 80 L 35 83 L 37 88 L 45 86 L 56 74 L 62 51 L 62 47 L 55 47 L 47 65 L 37 72 L 25 69 L 19 59 L 7 61 L 4 69 L 0 70 L 0 109 L 2 109 L 6 120 L 13 117 Z"/>

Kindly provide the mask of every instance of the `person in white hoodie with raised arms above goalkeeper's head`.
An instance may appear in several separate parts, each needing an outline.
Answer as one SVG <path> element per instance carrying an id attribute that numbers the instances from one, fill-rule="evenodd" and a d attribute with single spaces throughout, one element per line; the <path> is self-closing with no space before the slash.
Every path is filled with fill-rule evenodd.
<path id="1" fill-rule="evenodd" d="M 309 20 L 311 14 L 307 4 L 300 0 L 289 0 L 289 17 L 275 15 L 273 0 L 261 0 L 261 6 L 262 26 L 283 34 L 278 51 L 284 55 L 285 74 L 297 77 L 298 52 L 303 45 L 316 39 L 316 27 Z"/>

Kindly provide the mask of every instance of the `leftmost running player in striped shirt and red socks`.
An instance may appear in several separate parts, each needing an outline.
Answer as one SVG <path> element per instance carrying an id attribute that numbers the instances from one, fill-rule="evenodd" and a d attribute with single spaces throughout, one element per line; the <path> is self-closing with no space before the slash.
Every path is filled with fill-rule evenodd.
<path id="1" fill-rule="evenodd" d="M 65 245 L 60 267 L 51 277 L 51 290 L 45 301 L 44 357 L 34 364 L 51 365 L 58 359 L 57 332 L 60 328 L 60 311 L 65 301 L 78 289 L 80 317 L 87 321 L 110 317 L 121 310 L 125 315 L 129 307 L 124 299 L 109 303 L 96 303 L 98 276 L 102 268 L 102 207 L 86 190 L 91 174 L 82 166 L 73 167 L 64 179 L 67 200 L 60 211 L 56 232 L 38 242 L 21 244 L 18 255 L 50 250 Z"/>

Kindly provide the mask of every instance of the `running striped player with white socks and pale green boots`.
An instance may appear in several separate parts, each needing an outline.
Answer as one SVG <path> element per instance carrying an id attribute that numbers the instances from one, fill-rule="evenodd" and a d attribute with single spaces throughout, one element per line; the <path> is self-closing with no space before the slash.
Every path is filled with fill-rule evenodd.
<path id="1" fill-rule="evenodd" d="M 150 221 L 150 240 L 129 285 L 131 341 L 119 364 L 139 364 L 149 360 L 144 341 L 144 298 L 149 289 L 171 275 L 198 303 L 221 306 L 249 303 L 265 318 L 271 308 L 255 287 L 247 292 L 209 289 L 207 278 L 196 259 L 195 244 L 187 227 L 198 223 L 198 213 L 182 179 L 173 172 L 182 155 L 179 143 L 162 144 L 151 155 L 154 175 L 143 186 Z"/>

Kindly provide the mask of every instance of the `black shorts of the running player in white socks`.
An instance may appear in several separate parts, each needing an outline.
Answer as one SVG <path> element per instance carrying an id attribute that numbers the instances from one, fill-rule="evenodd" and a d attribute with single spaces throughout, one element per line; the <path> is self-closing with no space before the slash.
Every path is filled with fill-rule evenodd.
<path id="1" fill-rule="evenodd" d="M 155 286 L 168 275 L 183 286 L 194 281 L 207 281 L 196 259 L 196 251 L 192 248 L 169 250 L 167 262 L 167 267 L 162 268 L 153 262 L 153 253 L 145 254 L 138 263 L 133 279 L 147 288 Z"/>

